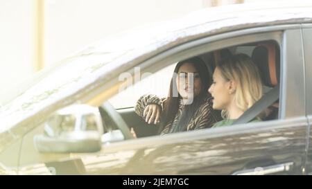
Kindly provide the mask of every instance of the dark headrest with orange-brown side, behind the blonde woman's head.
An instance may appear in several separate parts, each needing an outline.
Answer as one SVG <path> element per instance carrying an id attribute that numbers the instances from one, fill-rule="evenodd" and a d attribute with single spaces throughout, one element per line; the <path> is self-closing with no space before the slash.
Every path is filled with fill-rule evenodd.
<path id="1" fill-rule="evenodd" d="M 259 44 L 252 51 L 252 60 L 257 64 L 262 82 L 274 87 L 279 82 L 279 51 L 272 43 Z"/>

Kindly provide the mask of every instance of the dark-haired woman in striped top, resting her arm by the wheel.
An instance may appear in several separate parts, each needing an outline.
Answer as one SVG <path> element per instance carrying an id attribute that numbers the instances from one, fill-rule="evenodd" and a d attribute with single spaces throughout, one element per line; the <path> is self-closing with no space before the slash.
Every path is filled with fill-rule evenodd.
<path id="1" fill-rule="evenodd" d="M 207 66 L 199 57 L 178 62 L 168 97 L 141 96 L 135 112 L 146 123 L 159 124 L 159 134 L 209 128 L 222 120 L 220 111 L 212 109 L 210 84 Z"/>

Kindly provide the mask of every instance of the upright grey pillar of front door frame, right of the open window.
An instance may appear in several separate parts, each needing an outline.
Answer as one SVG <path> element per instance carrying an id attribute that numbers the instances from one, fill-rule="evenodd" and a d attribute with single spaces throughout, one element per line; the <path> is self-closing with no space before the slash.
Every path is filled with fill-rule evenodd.
<path id="1" fill-rule="evenodd" d="M 305 86 L 301 30 L 286 30 L 281 53 L 281 118 L 305 115 Z M 296 77 L 289 75 L 296 74 Z M 292 100 L 291 100 L 292 99 Z"/>

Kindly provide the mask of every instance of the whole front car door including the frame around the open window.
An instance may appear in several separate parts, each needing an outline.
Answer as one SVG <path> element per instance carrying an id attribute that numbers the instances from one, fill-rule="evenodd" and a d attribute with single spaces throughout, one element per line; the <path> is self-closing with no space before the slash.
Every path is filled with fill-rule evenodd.
<path id="1" fill-rule="evenodd" d="M 153 69 L 207 51 L 274 40 L 281 49 L 278 120 L 106 143 L 92 154 L 39 154 L 31 146 L 34 131 L 24 138 L 30 147 L 22 147 L 21 173 L 302 174 L 308 123 L 301 35 L 299 24 L 238 30 L 188 42 L 144 64 Z M 32 159 L 29 153 L 35 154 Z"/>

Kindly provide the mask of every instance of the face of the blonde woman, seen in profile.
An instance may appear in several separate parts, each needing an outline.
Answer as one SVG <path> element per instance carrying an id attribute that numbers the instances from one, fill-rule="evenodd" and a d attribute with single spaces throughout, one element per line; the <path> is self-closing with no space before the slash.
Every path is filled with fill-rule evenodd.
<path id="1" fill-rule="evenodd" d="M 229 92 L 229 81 L 225 80 L 218 67 L 214 70 L 214 75 L 212 76 L 213 82 L 209 87 L 208 91 L 211 93 L 213 98 L 212 108 L 214 109 L 227 109 L 232 98 Z"/>

